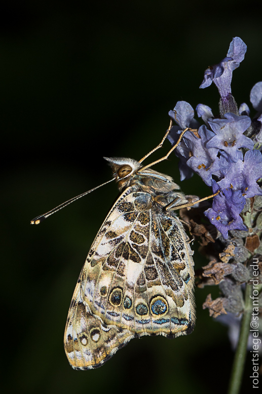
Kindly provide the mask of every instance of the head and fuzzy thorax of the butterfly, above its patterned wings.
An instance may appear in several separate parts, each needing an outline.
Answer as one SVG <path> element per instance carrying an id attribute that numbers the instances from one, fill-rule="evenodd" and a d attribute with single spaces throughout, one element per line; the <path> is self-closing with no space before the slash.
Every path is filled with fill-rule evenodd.
<path id="1" fill-rule="evenodd" d="M 153 201 L 162 207 L 173 201 L 174 206 L 187 202 L 184 194 L 178 191 L 180 187 L 171 177 L 149 168 L 143 170 L 141 163 L 131 158 L 112 157 L 106 160 L 110 163 L 120 191 L 134 186 L 136 191 L 151 194 Z"/>

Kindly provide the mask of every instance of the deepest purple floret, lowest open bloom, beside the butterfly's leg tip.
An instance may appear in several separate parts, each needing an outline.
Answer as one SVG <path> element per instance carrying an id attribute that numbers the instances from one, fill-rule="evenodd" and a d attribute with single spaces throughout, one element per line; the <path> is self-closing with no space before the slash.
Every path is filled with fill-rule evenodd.
<path id="1" fill-rule="evenodd" d="M 213 192 L 215 193 L 219 186 L 213 180 Z M 216 226 L 222 236 L 227 239 L 229 230 L 246 230 L 240 213 L 245 205 L 245 198 L 240 190 L 223 189 L 213 199 L 212 208 L 209 208 L 204 214 L 210 222 Z"/>

